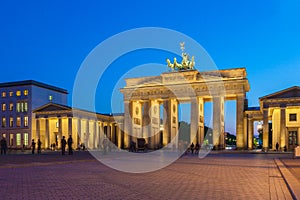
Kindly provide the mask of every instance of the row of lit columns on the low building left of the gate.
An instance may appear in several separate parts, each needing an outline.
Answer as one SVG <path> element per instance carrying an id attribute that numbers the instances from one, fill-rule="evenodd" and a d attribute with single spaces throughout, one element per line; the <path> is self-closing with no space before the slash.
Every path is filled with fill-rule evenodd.
<path id="1" fill-rule="evenodd" d="M 42 148 L 49 149 L 51 144 L 61 148 L 61 139 L 69 135 L 73 139 L 73 148 L 85 145 L 88 149 L 102 148 L 103 139 L 107 138 L 122 147 L 122 131 L 115 122 L 103 122 L 95 119 L 77 117 L 42 117 L 35 119 L 34 139 L 40 139 Z"/>

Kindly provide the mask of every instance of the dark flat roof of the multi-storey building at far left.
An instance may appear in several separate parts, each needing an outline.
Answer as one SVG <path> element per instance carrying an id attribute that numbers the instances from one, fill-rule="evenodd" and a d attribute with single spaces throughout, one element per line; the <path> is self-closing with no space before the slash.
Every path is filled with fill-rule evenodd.
<path id="1" fill-rule="evenodd" d="M 59 88 L 59 87 L 56 87 L 56 86 L 53 86 L 53 85 L 48 85 L 48 84 L 41 83 L 41 82 L 34 81 L 34 80 L 0 83 L 0 88 L 23 86 L 23 85 L 35 85 L 35 86 L 38 86 L 38 87 L 42 87 L 42 88 L 46 88 L 46 89 L 49 89 L 49 90 L 54 90 L 54 91 L 57 91 L 57 92 L 68 94 L 68 91 L 63 89 L 63 88 Z"/>

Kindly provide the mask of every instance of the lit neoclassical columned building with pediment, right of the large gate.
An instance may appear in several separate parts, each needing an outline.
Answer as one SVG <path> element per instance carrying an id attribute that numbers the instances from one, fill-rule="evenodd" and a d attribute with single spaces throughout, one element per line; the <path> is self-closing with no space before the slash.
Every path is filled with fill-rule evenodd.
<path id="1" fill-rule="evenodd" d="M 294 86 L 259 98 L 260 107 L 245 111 L 248 148 L 253 148 L 253 122 L 263 123 L 263 148 L 293 150 L 300 144 L 300 87 Z"/>

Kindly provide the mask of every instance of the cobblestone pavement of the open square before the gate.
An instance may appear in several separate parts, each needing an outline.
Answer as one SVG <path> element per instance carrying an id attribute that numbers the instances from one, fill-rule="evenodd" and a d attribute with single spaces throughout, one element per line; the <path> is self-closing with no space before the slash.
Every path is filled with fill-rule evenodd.
<path id="1" fill-rule="evenodd" d="M 89 155 L 0 157 L 1 199 L 292 199 L 281 154 L 186 155 L 154 172 L 113 170 Z"/>

